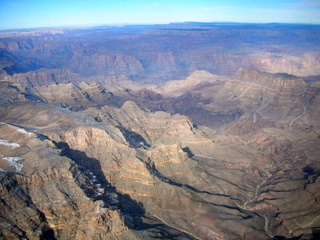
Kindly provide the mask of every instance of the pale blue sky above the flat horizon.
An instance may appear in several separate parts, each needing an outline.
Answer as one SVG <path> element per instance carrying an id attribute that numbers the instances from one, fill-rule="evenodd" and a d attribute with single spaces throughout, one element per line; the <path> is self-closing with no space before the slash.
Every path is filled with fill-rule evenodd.
<path id="1" fill-rule="evenodd" d="M 186 21 L 320 24 L 320 0 L 0 0 L 0 29 Z"/>

